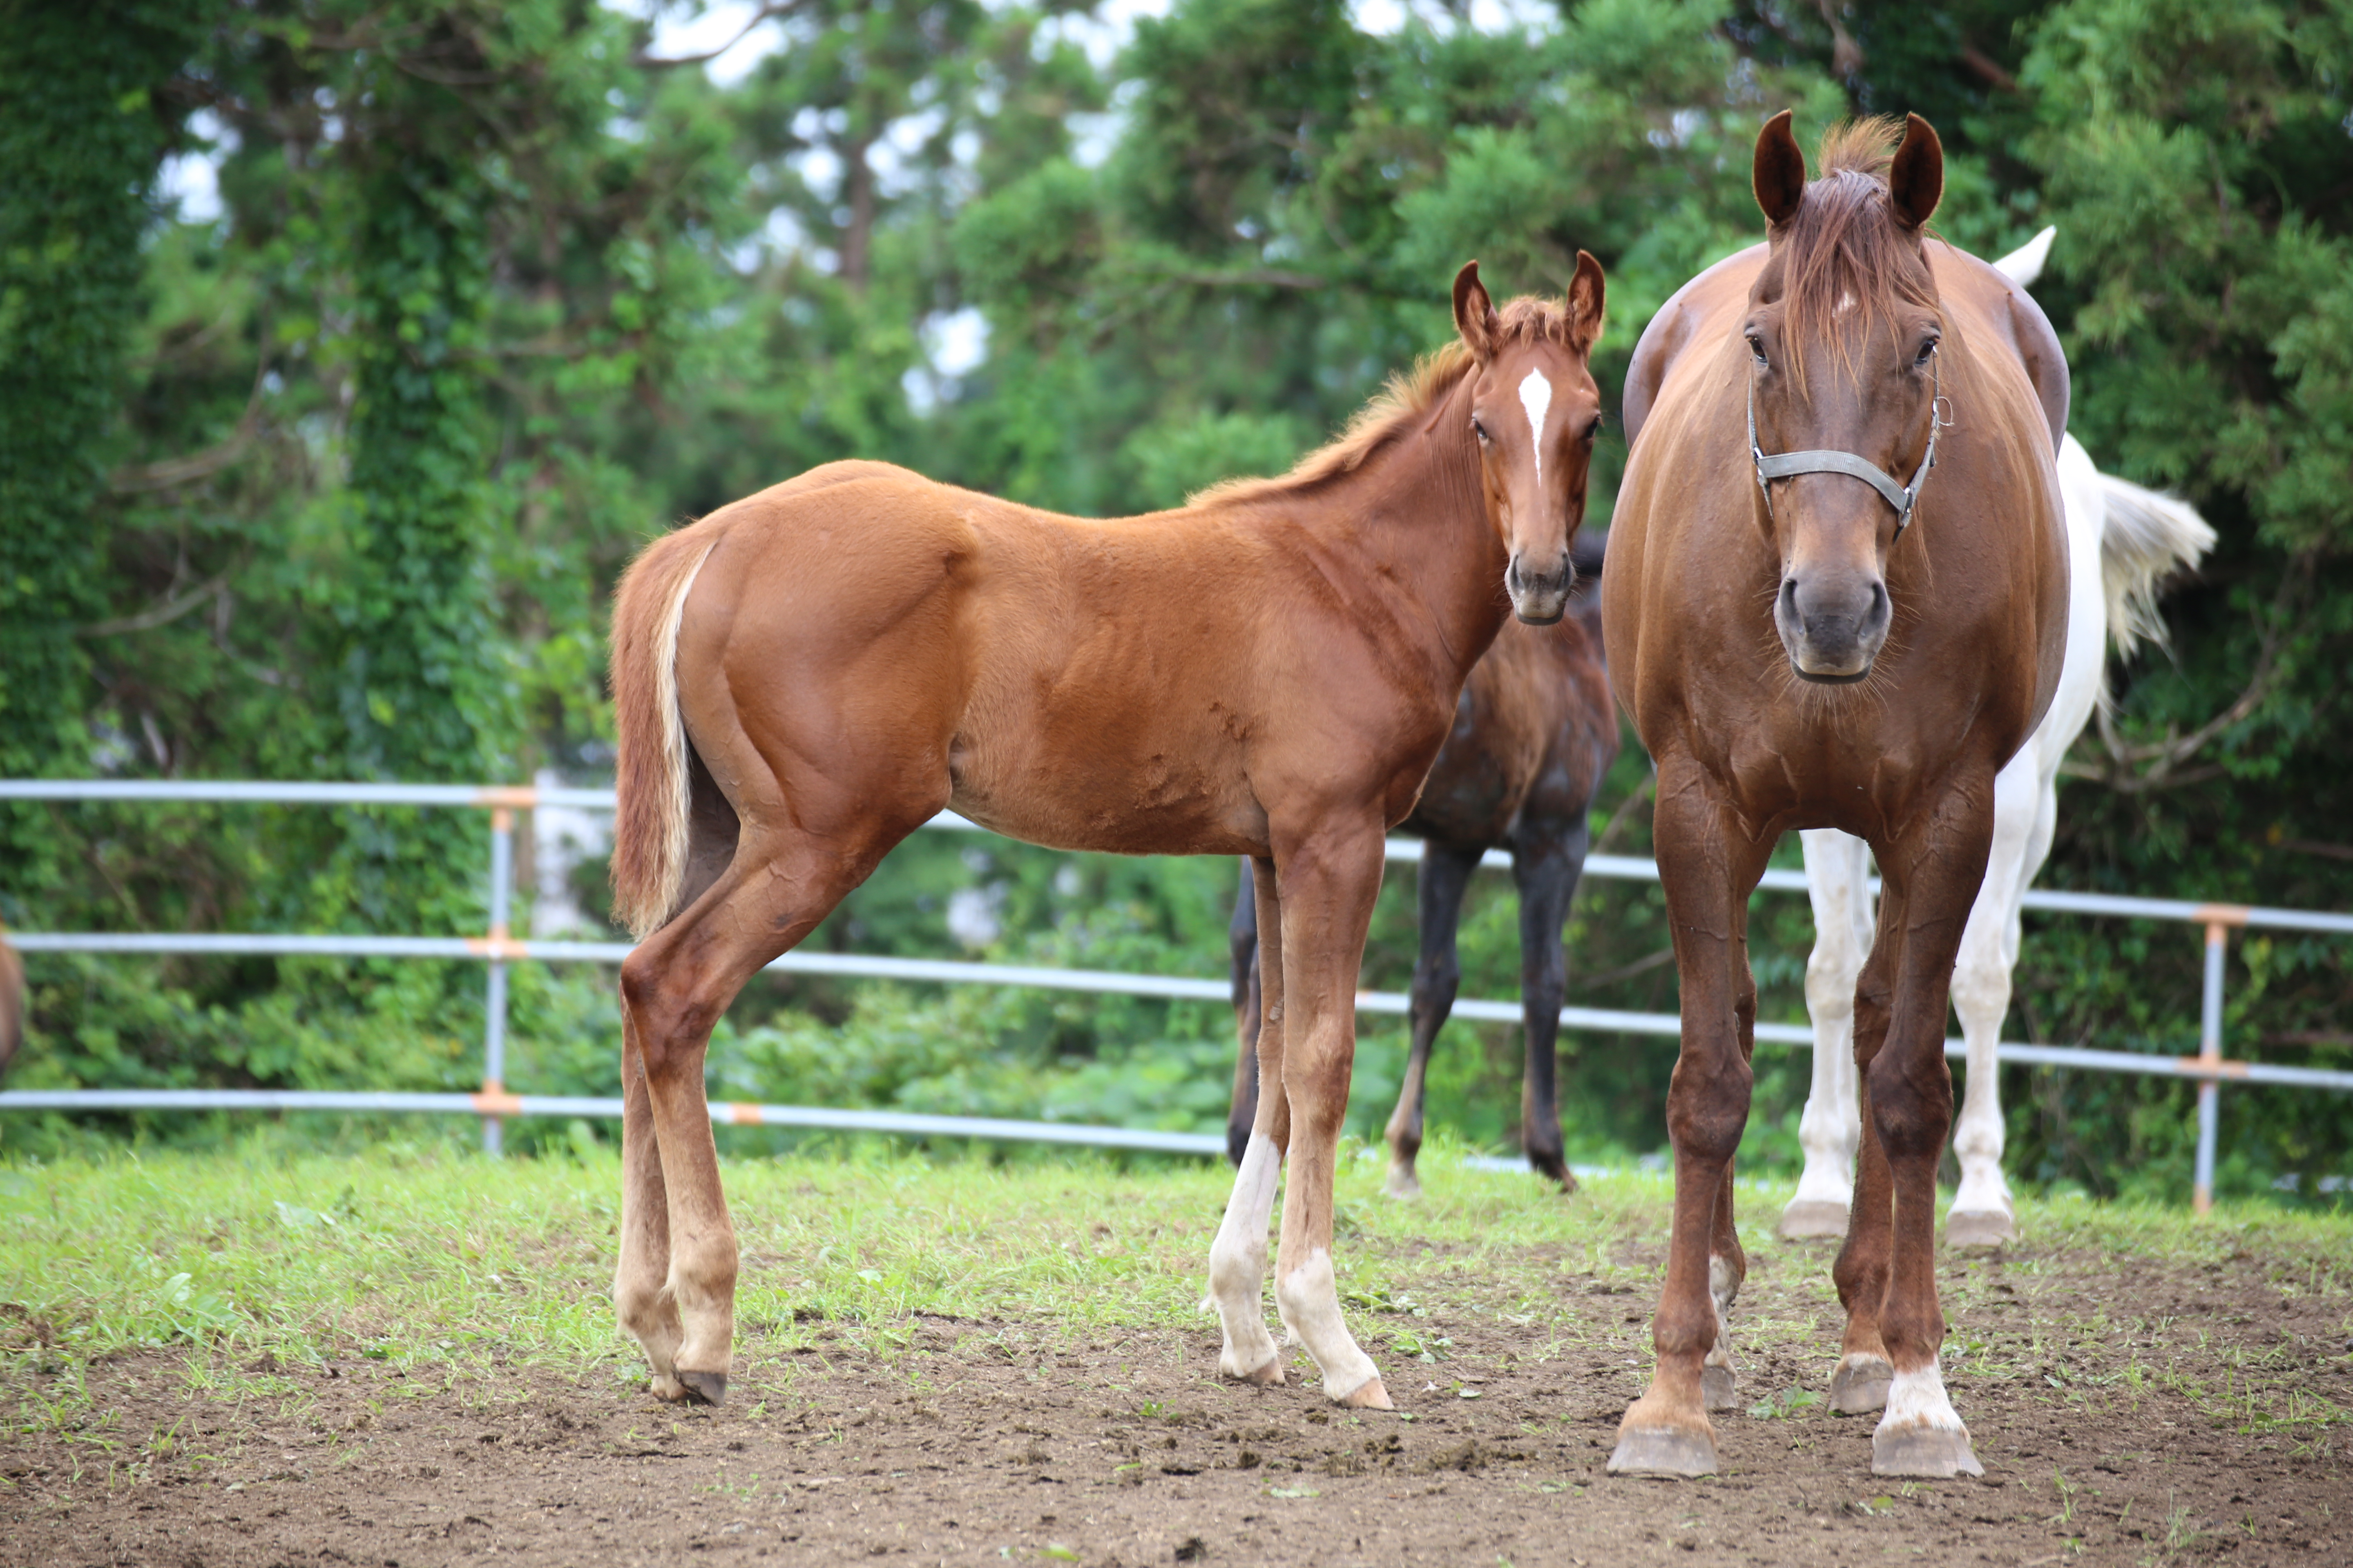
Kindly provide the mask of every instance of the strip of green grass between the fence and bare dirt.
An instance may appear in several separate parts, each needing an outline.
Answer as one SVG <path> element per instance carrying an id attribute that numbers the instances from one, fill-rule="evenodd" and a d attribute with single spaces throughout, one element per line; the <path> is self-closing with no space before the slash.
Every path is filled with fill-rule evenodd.
<path id="1" fill-rule="evenodd" d="M 1600 1340 L 1647 1354 L 1624 1319 L 1654 1302 L 1668 1180 L 1619 1175 L 1560 1199 L 1525 1173 L 1464 1171 L 1457 1154 L 1433 1145 L 1428 1194 L 1402 1206 L 1379 1194 L 1377 1161 L 1351 1150 L 1341 1166 L 1334 1251 L 1367 1347 L 1445 1361 L 1449 1326 L 1485 1316 L 1522 1331 L 1537 1356 Z M 767 1359 L 847 1335 L 889 1354 L 918 1312 L 965 1319 L 984 1340 L 1200 1331 L 1226 1190 L 1224 1166 L 1205 1161 L 1005 1164 L 880 1143 L 727 1161 L 741 1349 Z M 1784 1199 L 1741 1192 L 1753 1279 L 1774 1293 L 1744 1300 L 1739 1345 L 1819 1349 L 1835 1309 L 1828 1253 L 1769 1239 Z M 52 1373 L 47 1403 L 71 1403 L 82 1363 L 139 1347 L 186 1347 L 191 1387 L 224 1399 L 292 1394 L 273 1366 L 353 1356 L 635 1378 L 607 1298 L 616 1215 L 619 1161 L 595 1147 L 492 1161 L 449 1145 L 315 1154 L 254 1138 L 214 1154 L 0 1166 L 0 1363 Z M 1941 1267 L 1955 1366 L 2054 1399 L 2165 1387 L 2231 1425 L 2344 1420 L 2266 1378 L 2268 1352 L 2235 1342 L 2184 1359 L 2181 1324 L 2111 1321 L 2097 1291 L 2064 1291 L 2057 1312 L 2031 1302 L 2045 1276 L 2061 1291 L 2099 1267 L 2226 1269 L 2322 1302 L 2346 1333 L 2353 1220 L 2271 1206 L 2191 1220 L 2082 1199 L 2024 1201 L 2019 1218 L 2031 1246 L 1998 1269 Z M 1598 1295 L 1614 1298 L 1609 1312 Z"/>

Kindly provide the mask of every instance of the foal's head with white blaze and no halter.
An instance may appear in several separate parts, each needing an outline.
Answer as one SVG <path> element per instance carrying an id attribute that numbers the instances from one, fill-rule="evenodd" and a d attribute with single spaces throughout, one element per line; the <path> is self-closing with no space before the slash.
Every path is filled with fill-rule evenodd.
<path id="1" fill-rule="evenodd" d="M 1586 367 L 1602 334 L 1602 268 L 1577 252 L 1567 308 L 1515 299 L 1499 313 L 1473 261 L 1454 277 L 1454 327 L 1475 362 L 1471 433 L 1487 520 L 1511 557 L 1504 588 L 1522 621 L 1551 625 L 1577 583 L 1569 538 L 1586 520 L 1602 428 L 1602 393 Z"/>

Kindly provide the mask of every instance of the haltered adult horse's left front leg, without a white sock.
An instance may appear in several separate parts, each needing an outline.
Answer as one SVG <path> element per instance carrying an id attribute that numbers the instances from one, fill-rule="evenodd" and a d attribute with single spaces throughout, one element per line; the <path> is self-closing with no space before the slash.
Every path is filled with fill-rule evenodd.
<path id="1" fill-rule="evenodd" d="M 1659 759 L 1659 882 L 1675 933 L 1682 983 L 1682 1053 L 1666 1091 L 1666 1133 L 1675 1147 L 1675 1222 L 1666 1286 L 1652 1324 L 1659 1368 L 1619 1422 L 1609 1474 L 1715 1474 L 1701 1368 L 1718 1338 L 1711 1255 L 1720 1248 L 1718 1208 L 1732 1152 L 1748 1124 L 1748 1053 L 1741 1048 L 1744 910 L 1772 844 L 1748 837 L 1715 783 L 1687 759 Z M 1755 1006 L 1753 999 L 1746 1006 Z"/>

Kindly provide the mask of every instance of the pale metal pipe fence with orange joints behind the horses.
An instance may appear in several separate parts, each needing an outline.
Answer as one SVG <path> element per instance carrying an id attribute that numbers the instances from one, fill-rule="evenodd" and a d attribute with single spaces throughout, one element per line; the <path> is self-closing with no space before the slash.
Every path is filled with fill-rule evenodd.
<path id="1" fill-rule="evenodd" d="M 529 785 L 379 785 L 379 783 L 247 783 L 247 780 L 0 780 L 0 799 L 56 799 L 56 802 L 216 802 L 216 804 L 285 804 L 285 806 L 471 806 L 489 811 L 492 827 L 492 875 L 489 875 L 489 931 L 485 936 L 308 936 L 308 933 L 52 933 L 21 931 L 12 940 L 24 952 L 127 952 L 127 954 L 266 954 L 266 957 L 402 957 L 402 959 L 480 959 L 487 964 L 485 1034 L 482 1034 L 482 1091 L 480 1093 L 381 1093 L 381 1091 L 259 1091 L 259 1088 L 61 1088 L 61 1091 L 5 1091 L 0 1110 L 339 1110 L 339 1112 L 459 1112 L 482 1117 L 482 1143 L 496 1152 L 506 1117 L 619 1117 L 619 1100 L 565 1098 L 565 1095 L 515 1095 L 506 1088 L 506 966 L 513 961 L 546 964 L 619 964 L 628 957 L 628 943 L 551 943 L 518 940 L 508 931 L 513 903 L 513 842 L 515 811 L 532 806 L 605 809 L 614 804 L 612 790 L 539 790 Z M 979 832 L 953 811 L 944 811 L 929 827 Z M 1421 860 L 1421 844 L 1391 839 L 1388 858 L 1400 863 Z M 1487 865 L 1508 867 L 1501 851 L 1485 858 Z M 1635 856 L 1588 856 L 1588 877 L 1657 882 L 1659 867 Z M 1805 872 L 1769 870 L 1760 884 L 1765 891 L 1805 891 Z M 1873 889 L 1875 891 L 1875 889 Z M 2221 1056 L 2221 999 L 2224 959 L 2228 933 L 2238 926 L 2273 931 L 2313 931 L 2327 936 L 2353 936 L 2353 914 L 2320 910 L 2275 910 L 2259 905 L 2191 903 L 2177 898 L 2125 898 L 2111 893 L 2061 893 L 2028 891 L 2028 910 L 2057 914 L 2097 914 L 2125 919 L 2165 919 L 2205 926 L 2205 985 L 2200 997 L 2200 1051 L 2198 1056 L 2153 1056 L 2139 1051 L 2097 1051 L 2082 1046 L 2033 1046 L 2000 1044 L 2000 1060 L 2024 1065 L 2068 1067 L 2082 1072 L 2137 1072 L 2155 1077 L 2198 1079 L 2198 1166 L 2193 1201 L 2202 1213 L 2214 1192 L 2214 1143 L 2217 1143 L 2217 1091 L 2224 1079 L 2240 1084 L 2275 1084 L 2287 1088 L 2353 1091 L 2353 1072 L 2322 1067 L 2285 1067 L 2273 1063 L 2240 1063 Z M 1158 997 L 1174 1001 L 1226 1001 L 1226 980 L 1193 976 L 1139 976 L 1094 969 L 1047 969 L 1028 964 L 969 964 L 953 959 L 892 959 L 833 952 L 788 952 L 769 969 L 786 973 L 819 973 L 845 978 L 922 980 L 944 985 L 1014 985 L 1031 990 L 1071 990 L 1127 997 Z M 1400 992 L 1358 992 L 1358 1011 L 1405 1013 L 1409 1001 Z M 1518 1023 L 1518 1001 L 1461 999 L 1454 1004 L 1457 1018 Z M 1617 1009 L 1560 1009 L 1560 1023 L 1569 1030 L 1612 1034 L 1680 1034 L 1682 1025 L 1673 1013 L 1628 1013 Z M 1758 1023 L 1758 1044 L 1812 1046 L 1814 1034 L 1802 1025 Z M 1965 1056 L 1958 1039 L 1946 1041 L 1946 1056 Z M 1007 1121 L 988 1117 L 929 1117 L 913 1112 L 859 1112 L 821 1110 L 805 1105 L 748 1105 L 715 1103 L 713 1121 L 739 1126 L 812 1126 L 842 1131 L 873 1131 L 899 1135 L 953 1135 L 953 1138 L 1002 1138 L 1028 1143 L 1071 1143 L 1122 1150 L 1160 1150 L 1179 1154 L 1214 1154 L 1224 1150 L 1224 1138 L 1212 1133 L 1162 1133 L 1148 1128 L 1075 1126 L 1059 1121 Z"/>

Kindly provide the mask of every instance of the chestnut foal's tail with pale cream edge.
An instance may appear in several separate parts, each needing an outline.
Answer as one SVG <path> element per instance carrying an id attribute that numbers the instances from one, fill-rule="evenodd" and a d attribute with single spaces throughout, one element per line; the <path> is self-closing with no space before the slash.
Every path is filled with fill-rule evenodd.
<path id="1" fill-rule="evenodd" d="M 635 936 L 678 907 L 687 875 L 687 726 L 678 712 L 678 623 L 718 531 L 694 524 L 647 545 L 612 597 L 612 715 L 619 731 L 612 907 Z"/>

